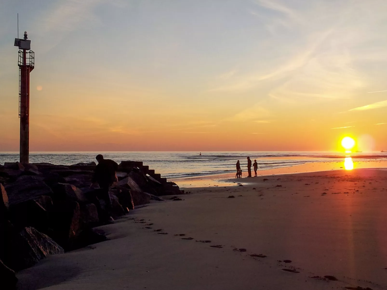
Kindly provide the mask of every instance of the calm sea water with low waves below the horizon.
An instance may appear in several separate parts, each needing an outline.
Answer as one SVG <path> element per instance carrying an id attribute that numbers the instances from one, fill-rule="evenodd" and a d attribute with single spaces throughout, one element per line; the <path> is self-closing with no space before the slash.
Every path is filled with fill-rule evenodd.
<path id="1" fill-rule="evenodd" d="M 241 167 L 247 166 L 247 156 L 257 159 L 258 169 L 275 169 L 308 162 L 342 161 L 344 154 L 332 152 L 32 152 L 30 163 L 48 162 L 71 165 L 79 162 L 95 161 L 102 153 L 105 158 L 117 163 L 122 160 L 143 161 L 144 165 L 155 169 L 164 177 L 188 177 L 209 174 L 221 174 L 235 171 L 236 160 Z M 387 153 L 356 153 L 352 157 L 359 161 L 387 160 Z M 19 160 L 18 152 L 0 152 L 0 164 Z M 254 161 L 253 161 L 254 162 Z"/>

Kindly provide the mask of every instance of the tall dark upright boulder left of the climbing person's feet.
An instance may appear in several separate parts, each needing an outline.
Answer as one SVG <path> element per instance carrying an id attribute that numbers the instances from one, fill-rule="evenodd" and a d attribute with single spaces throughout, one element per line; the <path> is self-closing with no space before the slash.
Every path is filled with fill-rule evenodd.
<path id="1" fill-rule="evenodd" d="M 52 238 L 70 249 L 80 232 L 80 208 L 75 201 L 55 201 L 49 213 Z"/>

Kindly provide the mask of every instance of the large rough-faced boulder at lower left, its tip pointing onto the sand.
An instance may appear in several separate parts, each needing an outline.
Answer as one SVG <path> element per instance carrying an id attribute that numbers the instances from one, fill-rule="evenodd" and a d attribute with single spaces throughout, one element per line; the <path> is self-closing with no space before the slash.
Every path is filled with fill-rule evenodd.
<path id="1" fill-rule="evenodd" d="M 19 271 L 38 263 L 51 254 L 63 253 L 63 248 L 48 235 L 26 227 L 12 239 L 10 268 Z"/>

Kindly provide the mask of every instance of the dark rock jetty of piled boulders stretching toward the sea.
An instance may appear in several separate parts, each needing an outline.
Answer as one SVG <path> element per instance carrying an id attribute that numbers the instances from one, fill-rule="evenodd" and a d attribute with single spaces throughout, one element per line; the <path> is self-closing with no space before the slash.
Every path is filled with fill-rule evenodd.
<path id="1" fill-rule="evenodd" d="M 106 241 L 93 228 L 106 217 L 99 189 L 90 188 L 95 162 L 0 165 L 0 276 L 15 289 L 19 271 L 50 254 Z M 122 161 L 110 190 L 113 218 L 163 195 L 183 194 L 139 161 Z"/>

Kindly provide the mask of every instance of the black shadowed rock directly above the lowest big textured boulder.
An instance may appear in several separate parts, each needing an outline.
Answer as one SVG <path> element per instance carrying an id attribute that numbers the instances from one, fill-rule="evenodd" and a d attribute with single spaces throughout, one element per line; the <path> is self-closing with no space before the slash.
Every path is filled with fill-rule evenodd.
<path id="1" fill-rule="evenodd" d="M 48 229 L 48 213 L 35 200 L 26 200 L 9 209 L 10 220 L 17 228 L 34 227 L 35 229 L 46 232 Z"/>

